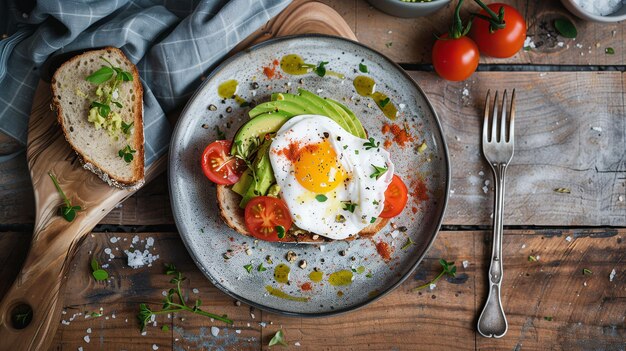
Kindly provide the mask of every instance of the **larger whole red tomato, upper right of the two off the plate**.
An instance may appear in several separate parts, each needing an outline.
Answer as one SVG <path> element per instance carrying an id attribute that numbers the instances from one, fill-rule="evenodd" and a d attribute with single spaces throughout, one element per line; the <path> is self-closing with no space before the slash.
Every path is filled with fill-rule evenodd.
<path id="1" fill-rule="evenodd" d="M 478 45 L 480 52 L 485 55 L 499 58 L 515 55 L 524 46 L 526 40 L 524 17 L 515 8 L 506 4 L 494 3 L 487 7 L 495 13 L 499 13 L 500 7 L 504 8 L 504 28 L 491 33 L 489 21 L 475 17 L 470 36 Z M 480 14 L 489 17 L 485 10 L 482 10 Z"/>

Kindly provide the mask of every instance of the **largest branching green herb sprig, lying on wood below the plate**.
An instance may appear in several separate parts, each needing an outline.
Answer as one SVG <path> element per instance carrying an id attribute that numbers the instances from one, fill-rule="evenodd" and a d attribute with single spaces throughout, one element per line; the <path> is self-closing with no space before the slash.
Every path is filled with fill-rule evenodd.
<path id="1" fill-rule="evenodd" d="M 183 298 L 181 283 L 187 278 L 185 278 L 182 273 L 176 269 L 176 266 L 174 266 L 173 264 L 166 264 L 165 274 L 173 276 L 173 278 L 170 280 L 170 283 L 174 284 L 175 288 L 172 288 L 168 291 L 167 296 L 165 296 L 165 300 L 163 301 L 163 309 L 161 310 L 151 310 L 145 303 L 139 305 L 139 313 L 137 314 L 137 319 L 139 320 L 141 331 L 144 331 L 146 329 L 146 325 L 150 322 L 153 315 L 183 311 L 217 319 L 218 321 L 222 321 L 224 323 L 233 324 L 233 321 L 231 319 L 228 319 L 226 315 L 218 316 L 216 314 L 201 310 L 200 306 L 202 305 L 202 301 L 200 301 L 200 299 L 196 300 L 193 305 L 188 305 L 185 302 L 185 299 Z"/>

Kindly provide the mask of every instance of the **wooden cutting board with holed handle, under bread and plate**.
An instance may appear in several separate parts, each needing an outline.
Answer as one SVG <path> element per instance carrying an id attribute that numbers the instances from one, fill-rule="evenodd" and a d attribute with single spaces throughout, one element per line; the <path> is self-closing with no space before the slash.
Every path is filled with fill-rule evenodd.
<path id="1" fill-rule="evenodd" d="M 330 7 L 295 1 L 246 38 L 232 52 L 284 35 L 322 33 L 356 40 L 343 18 Z M 0 350 L 46 350 L 59 325 L 65 278 L 85 236 L 134 191 L 107 186 L 84 170 L 65 141 L 50 110 L 50 85 L 40 81 L 28 126 L 27 160 L 35 193 L 35 227 L 28 257 L 0 304 Z M 167 155 L 146 168 L 146 182 L 166 169 Z M 48 172 L 56 175 L 73 204 L 84 209 L 68 223 L 57 215 L 62 200 Z M 79 262 L 88 265 L 89 262 Z M 16 311 L 30 306 L 30 322 L 16 329 Z"/>

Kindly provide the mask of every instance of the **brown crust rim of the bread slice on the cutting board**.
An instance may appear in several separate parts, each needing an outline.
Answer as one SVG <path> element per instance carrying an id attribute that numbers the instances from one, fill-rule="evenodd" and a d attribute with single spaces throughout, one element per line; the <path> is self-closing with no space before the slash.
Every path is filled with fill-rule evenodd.
<path id="1" fill-rule="evenodd" d="M 61 102 L 57 98 L 57 96 L 59 95 L 56 89 L 56 82 L 58 78 L 57 74 L 60 72 L 61 68 L 66 65 L 73 65 L 77 61 L 80 61 L 83 58 L 86 58 L 88 56 L 99 55 L 98 53 L 102 51 L 106 51 L 109 53 L 115 52 L 116 54 L 118 54 L 120 58 L 124 60 L 131 67 L 131 73 L 133 75 L 132 83 L 133 83 L 133 92 L 135 94 L 135 101 L 134 101 L 135 114 L 133 116 L 135 128 L 134 128 L 134 133 L 133 133 L 133 139 L 134 139 L 133 145 L 135 146 L 140 145 L 141 147 L 137 147 L 137 150 L 136 150 L 137 153 L 135 154 L 135 159 L 137 160 L 137 162 L 133 162 L 133 176 L 130 180 L 117 179 L 116 177 L 112 176 L 111 174 L 106 172 L 104 168 L 100 164 L 98 164 L 98 162 L 88 158 L 84 153 L 81 152 L 81 150 L 79 150 L 72 143 L 71 138 L 69 137 L 69 131 L 67 130 L 65 123 L 63 121 L 63 108 L 62 108 Z M 78 155 L 79 160 L 81 164 L 83 165 L 83 167 L 95 173 L 100 179 L 106 182 L 109 186 L 114 186 L 120 189 L 128 189 L 128 190 L 133 190 L 133 189 L 137 189 L 141 187 L 144 183 L 144 159 L 145 159 L 144 147 L 143 147 L 143 143 L 144 143 L 143 87 L 141 85 L 141 81 L 139 78 L 139 71 L 137 70 L 137 67 L 126 57 L 126 55 L 124 55 L 124 53 L 120 49 L 115 48 L 115 47 L 106 47 L 100 50 L 86 51 L 80 55 L 72 57 L 71 59 L 63 63 L 61 67 L 59 67 L 59 69 L 57 69 L 55 74 L 52 76 L 51 88 L 52 88 L 52 106 L 53 106 L 53 109 L 57 113 L 57 121 L 59 122 L 59 125 L 61 126 L 61 129 L 63 130 L 65 139 L 68 141 L 68 143 L 70 144 L 74 152 L 76 152 L 76 154 Z"/>

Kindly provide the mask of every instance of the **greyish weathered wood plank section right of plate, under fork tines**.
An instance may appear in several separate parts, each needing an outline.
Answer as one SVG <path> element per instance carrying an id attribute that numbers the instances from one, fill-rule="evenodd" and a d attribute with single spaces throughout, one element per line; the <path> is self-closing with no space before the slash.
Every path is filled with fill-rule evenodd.
<path id="1" fill-rule="evenodd" d="M 481 72 L 465 83 L 443 83 L 425 72 L 411 76 L 432 101 L 450 150 L 445 224 L 491 222 L 493 180 L 480 151 L 479 116 L 488 89 L 517 88 L 505 224 L 626 225 L 622 73 Z M 571 189 L 571 194 L 556 188 Z"/>

